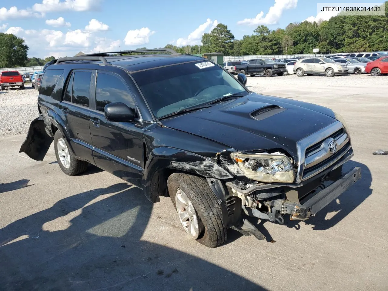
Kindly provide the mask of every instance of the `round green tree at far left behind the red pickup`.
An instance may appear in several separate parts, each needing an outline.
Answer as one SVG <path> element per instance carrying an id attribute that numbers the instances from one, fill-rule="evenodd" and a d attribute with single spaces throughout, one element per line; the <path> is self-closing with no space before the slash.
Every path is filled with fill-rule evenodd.
<path id="1" fill-rule="evenodd" d="M 28 46 L 24 39 L 9 33 L 0 33 L 0 68 L 24 67 Z"/>

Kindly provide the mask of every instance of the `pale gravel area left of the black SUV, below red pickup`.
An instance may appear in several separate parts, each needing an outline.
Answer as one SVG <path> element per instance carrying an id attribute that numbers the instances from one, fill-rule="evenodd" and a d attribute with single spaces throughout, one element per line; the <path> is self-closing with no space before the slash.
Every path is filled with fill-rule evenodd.
<path id="1" fill-rule="evenodd" d="M 38 117 L 38 92 L 26 84 L 19 88 L 0 91 L 0 135 L 27 133 L 31 120 Z"/>

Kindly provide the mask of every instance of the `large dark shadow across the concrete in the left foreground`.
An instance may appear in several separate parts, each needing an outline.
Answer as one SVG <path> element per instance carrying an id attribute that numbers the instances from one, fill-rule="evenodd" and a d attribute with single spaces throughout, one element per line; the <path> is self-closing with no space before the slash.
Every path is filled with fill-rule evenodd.
<path id="1" fill-rule="evenodd" d="M 152 208 L 142 191 L 119 183 L 66 197 L 10 223 L 0 229 L 1 289 L 265 290 L 167 247 L 166 224 L 149 223 Z M 160 244 L 142 239 L 150 229 Z"/>

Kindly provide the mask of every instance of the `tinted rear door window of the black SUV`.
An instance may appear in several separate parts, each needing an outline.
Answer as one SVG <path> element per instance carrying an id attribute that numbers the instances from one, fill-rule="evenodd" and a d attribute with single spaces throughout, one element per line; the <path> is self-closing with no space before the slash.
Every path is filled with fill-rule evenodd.
<path id="1" fill-rule="evenodd" d="M 92 72 L 74 72 L 73 95 L 71 96 L 71 102 L 89 107 L 91 78 Z"/>

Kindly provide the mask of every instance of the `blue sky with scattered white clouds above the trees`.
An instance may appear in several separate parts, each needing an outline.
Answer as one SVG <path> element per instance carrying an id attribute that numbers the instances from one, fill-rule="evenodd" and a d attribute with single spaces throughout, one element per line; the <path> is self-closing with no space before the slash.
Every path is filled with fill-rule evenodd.
<path id="1" fill-rule="evenodd" d="M 0 32 L 24 38 L 28 57 L 40 58 L 195 45 L 218 23 L 240 39 L 260 24 L 276 29 L 314 21 L 317 2 L 323 1 L 0 0 Z M 352 1 L 341 0 L 346 2 Z"/>

